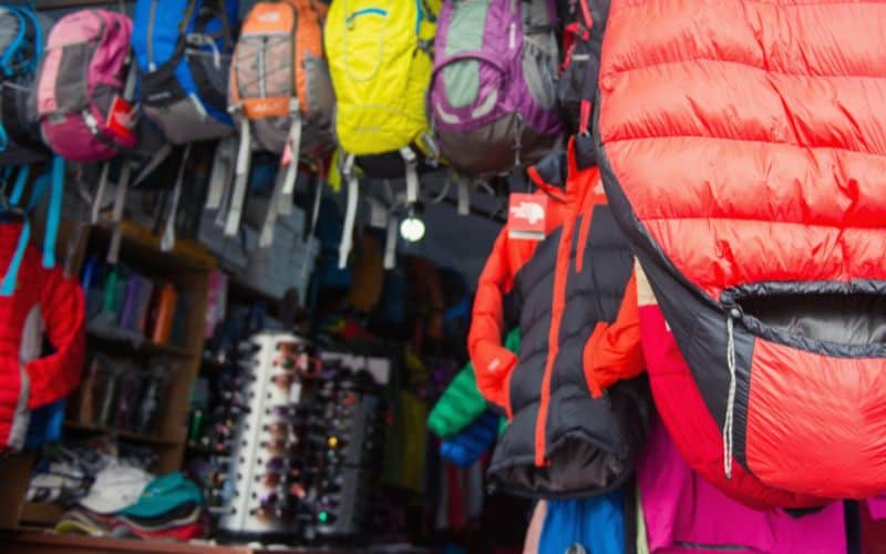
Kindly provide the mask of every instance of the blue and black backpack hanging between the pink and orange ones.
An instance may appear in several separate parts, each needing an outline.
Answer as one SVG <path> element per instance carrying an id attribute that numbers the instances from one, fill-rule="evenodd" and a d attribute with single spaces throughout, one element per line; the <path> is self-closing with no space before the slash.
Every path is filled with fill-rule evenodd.
<path id="1" fill-rule="evenodd" d="M 138 0 L 132 49 L 145 115 L 176 144 L 229 134 L 237 0 Z"/>

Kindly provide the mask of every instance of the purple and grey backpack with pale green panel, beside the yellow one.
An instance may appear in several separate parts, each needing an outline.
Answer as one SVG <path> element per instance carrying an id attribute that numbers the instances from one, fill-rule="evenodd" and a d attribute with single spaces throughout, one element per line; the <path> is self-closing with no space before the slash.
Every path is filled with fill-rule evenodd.
<path id="1" fill-rule="evenodd" d="M 457 171 L 503 173 L 559 140 L 556 22 L 548 0 L 444 0 L 430 113 Z"/>

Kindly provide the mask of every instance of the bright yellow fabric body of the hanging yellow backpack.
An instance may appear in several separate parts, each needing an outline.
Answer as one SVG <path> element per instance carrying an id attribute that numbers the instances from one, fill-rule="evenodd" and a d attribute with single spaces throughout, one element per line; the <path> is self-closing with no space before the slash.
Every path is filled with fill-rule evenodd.
<path id="1" fill-rule="evenodd" d="M 424 13 L 425 7 L 432 13 Z M 422 144 L 440 2 L 334 0 L 323 40 L 336 91 L 336 134 L 357 156 Z M 421 147 L 423 153 L 427 153 Z"/>

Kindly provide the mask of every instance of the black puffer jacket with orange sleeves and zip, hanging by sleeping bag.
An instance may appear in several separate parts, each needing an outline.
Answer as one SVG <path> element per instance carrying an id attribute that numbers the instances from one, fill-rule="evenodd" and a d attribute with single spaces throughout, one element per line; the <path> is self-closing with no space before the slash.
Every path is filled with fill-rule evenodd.
<path id="1" fill-rule="evenodd" d="M 602 492 L 632 471 L 645 433 L 632 256 L 596 167 L 554 153 L 528 171 L 547 197 L 542 240 L 506 226 L 480 277 L 468 336 L 477 386 L 512 420 L 490 466 L 511 492 Z M 502 345 L 518 325 L 521 350 Z M 606 397 L 606 398 L 604 398 Z"/>

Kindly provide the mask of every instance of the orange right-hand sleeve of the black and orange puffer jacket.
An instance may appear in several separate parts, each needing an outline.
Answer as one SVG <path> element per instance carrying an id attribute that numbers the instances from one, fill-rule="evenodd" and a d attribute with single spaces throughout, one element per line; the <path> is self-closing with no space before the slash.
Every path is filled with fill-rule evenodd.
<path id="1" fill-rule="evenodd" d="M 594 398 L 599 398 L 618 380 L 636 377 L 646 368 L 636 273 L 631 271 L 616 320 L 598 324 L 585 343 L 584 360 L 585 378 Z"/>

